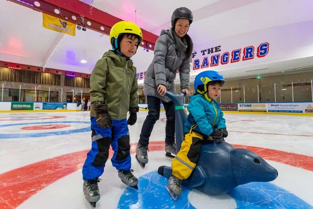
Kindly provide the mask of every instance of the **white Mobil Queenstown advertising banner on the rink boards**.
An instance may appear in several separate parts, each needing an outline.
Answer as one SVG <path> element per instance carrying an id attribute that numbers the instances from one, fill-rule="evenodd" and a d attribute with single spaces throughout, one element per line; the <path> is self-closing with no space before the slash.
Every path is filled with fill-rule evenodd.
<path id="1" fill-rule="evenodd" d="M 303 112 L 305 103 L 268 103 L 268 112 Z M 307 103 L 306 103 L 307 104 Z"/>

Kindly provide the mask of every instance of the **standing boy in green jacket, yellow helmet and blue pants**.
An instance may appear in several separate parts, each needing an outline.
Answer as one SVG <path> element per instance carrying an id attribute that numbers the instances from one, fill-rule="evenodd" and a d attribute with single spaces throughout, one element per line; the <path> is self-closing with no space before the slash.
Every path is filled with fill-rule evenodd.
<path id="1" fill-rule="evenodd" d="M 136 68 L 130 59 L 142 41 L 141 29 L 134 23 L 121 21 L 113 25 L 110 42 L 113 50 L 104 53 L 90 76 L 92 147 L 83 166 L 83 191 L 93 206 L 100 199 L 99 176 L 103 174 L 114 151 L 112 165 L 128 186 L 137 187 L 132 174 L 128 125 L 134 125 L 139 110 Z M 127 112 L 130 117 L 126 121 Z"/>

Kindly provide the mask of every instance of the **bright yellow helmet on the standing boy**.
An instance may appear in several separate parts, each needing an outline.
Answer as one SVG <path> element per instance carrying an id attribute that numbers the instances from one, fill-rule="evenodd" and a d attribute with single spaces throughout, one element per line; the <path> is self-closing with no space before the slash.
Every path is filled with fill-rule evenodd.
<path id="1" fill-rule="evenodd" d="M 113 50 L 119 49 L 119 43 L 117 41 L 120 34 L 134 34 L 139 36 L 138 45 L 141 44 L 142 41 L 142 32 L 141 29 L 133 22 L 130 21 L 120 21 L 115 23 L 110 31 L 110 42 L 112 45 Z"/>

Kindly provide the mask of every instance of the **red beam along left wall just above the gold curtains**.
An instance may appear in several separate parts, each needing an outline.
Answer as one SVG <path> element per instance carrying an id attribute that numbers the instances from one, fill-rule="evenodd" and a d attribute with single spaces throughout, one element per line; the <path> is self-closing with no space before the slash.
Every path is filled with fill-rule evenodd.
<path id="1" fill-rule="evenodd" d="M 0 67 L 6 67 L 9 69 L 15 69 L 15 70 L 25 70 L 25 71 L 34 71 L 34 72 L 42 72 L 42 67 L 33 66 L 33 65 L 24 65 L 24 64 L 18 64 L 13 62 L 5 62 L 0 61 Z M 82 77 L 82 78 L 90 78 L 90 74 L 87 73 L 79 73 L 79 72 L 72 72 L 72 71 L 63 71 L 53 68 L 46 68 L 45 73 L 51 73 L 51 74 L 57 74 L 57 75 L 69 75 L 69 76 L 76 76 L 76 77 Z"/>

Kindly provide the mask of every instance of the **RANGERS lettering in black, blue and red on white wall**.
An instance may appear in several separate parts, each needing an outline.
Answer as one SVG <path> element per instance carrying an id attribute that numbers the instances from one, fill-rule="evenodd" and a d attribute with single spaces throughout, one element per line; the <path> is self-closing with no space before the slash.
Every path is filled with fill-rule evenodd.
<path id="1" fill-rule="evenodd" d="M 211 48 L 205 48 L 203 50 L 200 50 L 200 52 L 193 52 L 192 58 L 194 58 L 197 54 L 203 56 L 203 58 L 201 58 L 202 60 L 194 59 L 192 69 L 198 70 L 218 65 L 227 65 L 228 63 L 252 60 L 256 57 L 262 58 L 265 57 L 268 53 L 268 42 L 261 43 L 258 46 L 246 46 L 241 49 L 234 49 L 232 51 L 222 51 L 221 46 L 219 45 Z"/>

